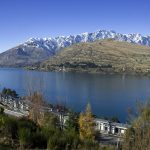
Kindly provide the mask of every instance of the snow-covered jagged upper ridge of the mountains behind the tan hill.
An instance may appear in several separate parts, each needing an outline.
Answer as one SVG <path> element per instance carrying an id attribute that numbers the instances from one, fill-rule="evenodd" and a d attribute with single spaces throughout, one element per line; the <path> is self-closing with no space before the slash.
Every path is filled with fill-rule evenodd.
<path id="1" fill-rule="evenodd" d="M 24 45 L 50 50 L 52 54 L 55 54 L 56 51 L 75 43 L 93 42 L 109 38 L 113 38 L 117 41 L 126 41 L 129 43 L 150 46 L 150 36 L 142 36 L 141 34 L 120 34 L 115 31 L 106 30 L 99 30 L 93 33 L 85 32 L 78 35 L 60 36 L 56 38 L 30 38 Z"/>

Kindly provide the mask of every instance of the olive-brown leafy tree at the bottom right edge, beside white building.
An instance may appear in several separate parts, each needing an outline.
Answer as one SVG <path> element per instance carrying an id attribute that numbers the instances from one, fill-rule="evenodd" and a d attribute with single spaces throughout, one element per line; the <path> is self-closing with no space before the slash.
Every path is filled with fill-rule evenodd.
<path id="1" fill-rule="evenodd" d="M 126 132 L 124 150 L 150 149 L 150 101 L 138 108 L 138 116 Z"/>

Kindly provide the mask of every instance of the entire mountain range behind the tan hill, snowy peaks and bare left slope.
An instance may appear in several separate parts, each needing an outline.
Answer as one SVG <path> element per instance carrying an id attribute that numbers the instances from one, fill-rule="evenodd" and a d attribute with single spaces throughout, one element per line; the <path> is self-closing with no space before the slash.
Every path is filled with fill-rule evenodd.
<path id="1" fill-rule="evenodd" d="M 31 66 L 56 55 L 65 47 L 102 39 L 114 39 L 116 41 L 126 41 L 138 45 L 150 46 L 150 36 L 142 36 L 141 34 L 120 34 L 115 31 L 106 30 L 55 38 L 30 38 L 23 44 L 1 53 L 0 66 Z"/>

